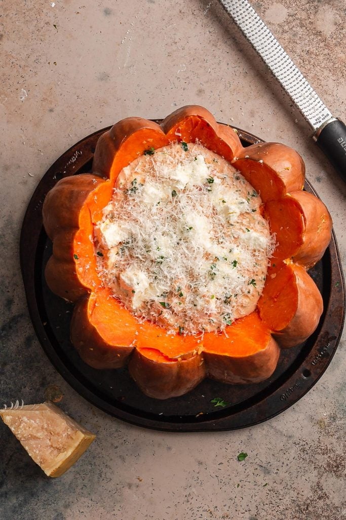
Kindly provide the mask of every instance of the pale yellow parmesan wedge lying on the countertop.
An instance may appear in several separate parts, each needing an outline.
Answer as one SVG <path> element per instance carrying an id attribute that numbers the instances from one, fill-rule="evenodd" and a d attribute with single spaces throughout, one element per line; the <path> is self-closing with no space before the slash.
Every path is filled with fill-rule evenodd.
<path id="1" fill-rule="evenodd" d="M 95 438 L 51 402 L 0 410 L 0 416 L 49 477 L 59 477 Z"/>

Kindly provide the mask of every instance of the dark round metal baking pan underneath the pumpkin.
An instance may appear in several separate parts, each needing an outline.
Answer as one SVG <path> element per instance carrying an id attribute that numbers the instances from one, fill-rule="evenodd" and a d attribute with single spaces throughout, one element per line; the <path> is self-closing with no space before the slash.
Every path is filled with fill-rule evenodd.
<path id="1" fill-rule="evenodd" d="M 157 121 L 160 122 L 160 121 Z M 204 380 L 188 394 L 167 400 L 146 397 L 126 368 L 95 370 L 84 363 L 70 342 L 73 305 L 48 289 L 44 268 L 52 244 L 42 225 L 42 205 L 59 179 L 89 172 L 104 128 L 79 141 L 54 162 L 40 180 L 27 207 L 20 238 L 20 261 L 27 305 L 43 349 L 63 378 L 105 412 L 130 423 L 175 432 L 236 430 L 266 421 L 292 406 L 320 379 L 337 349 L 344 321 L 345 287 L 335 235 L 322 260 L 309 271 L 323 296 L 324 312 L 309 339 L 282 350 L 268 380 L 226 385 Z M 238 129 L 243 146 L 261 139 Z M 306 183 L 305 189 L 316 192 Z M 225 406 L 211 402 L 220 398 Z"/>

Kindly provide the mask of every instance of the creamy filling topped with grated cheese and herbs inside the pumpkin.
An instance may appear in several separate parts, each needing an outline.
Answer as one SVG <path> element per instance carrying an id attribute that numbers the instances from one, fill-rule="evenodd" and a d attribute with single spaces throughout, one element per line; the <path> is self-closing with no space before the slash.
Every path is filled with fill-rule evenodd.
<path id="1" fill-rule="evenodd" d="M 172 333 L 250 314 L 274 240 L 261 199 L 201 144 L 146 150 L 120 172 L 95 226 L 98 274 L 135 316 Z"/>

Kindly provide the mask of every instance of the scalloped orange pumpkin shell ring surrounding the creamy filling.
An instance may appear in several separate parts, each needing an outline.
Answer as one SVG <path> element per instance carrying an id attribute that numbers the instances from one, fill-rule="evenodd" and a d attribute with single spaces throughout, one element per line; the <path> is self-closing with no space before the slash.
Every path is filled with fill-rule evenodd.
<path id="1" fill-rule="evenodd" d="M 90 239 L 123 167 L 148 147 L 196 140 L 257 190 L 276 241 L 256 310 L 227 326 L 226 334 L 204 333 L 202 341 L 137 320 L 103 287 Z M 71 340 L 80 357 L 96 369 L 128 364 L 142 391 L 158 399 L 183 395 L 205 376 L 232 384 L 269 378 L 280 347 L 305 341 L 323 310 L 307 269 L 328 246 L 331 218 L 319 199 L 302 191 L 304 180 L 305 166 L 295 150 L 279 143 L 243 148 L 233 128 L 199 106 L 178 109 L 160 125 L 134 117 L 116 123 L 98 141 L 92 173 L 61 179 L 43 206 L 53 242 L 45 276 L 54 293 L 75 302 Z"/>

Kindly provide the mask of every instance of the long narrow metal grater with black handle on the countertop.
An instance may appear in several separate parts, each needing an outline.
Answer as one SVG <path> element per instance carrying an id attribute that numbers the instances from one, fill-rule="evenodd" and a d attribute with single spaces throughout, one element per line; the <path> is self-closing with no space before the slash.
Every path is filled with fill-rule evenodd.
<path id="1" fill-rule="evenodd" d="M 312 127 L 313 139 L 346 178 L 346 126 L 335 118 L 247 0 L 219 0 Z"/>

